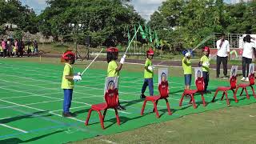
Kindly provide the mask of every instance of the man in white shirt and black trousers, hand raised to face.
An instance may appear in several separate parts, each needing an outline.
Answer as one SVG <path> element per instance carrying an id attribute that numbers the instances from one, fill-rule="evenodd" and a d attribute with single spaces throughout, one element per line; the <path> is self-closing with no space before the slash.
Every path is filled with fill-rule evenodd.
<path id="1" fill-rule="evenodd" d="M 223 78 L 227 78 L 227 60 L 230 57 L 230 43 L 229 41 L 225 40 L 225 34 L 221 35 L 221 39 L 217 41 L 216 46 L 218 49 L 216 78 L 219 78 L 221 64 L 223 65 Z"/>

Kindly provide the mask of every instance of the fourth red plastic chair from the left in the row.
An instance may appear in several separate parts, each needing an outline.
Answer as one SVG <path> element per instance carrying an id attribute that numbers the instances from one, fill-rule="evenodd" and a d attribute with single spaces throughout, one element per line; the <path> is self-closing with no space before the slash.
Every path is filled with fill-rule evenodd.
<path id="1" fill-rule="evenodd" d="M 234 92 L 234 89 L 237 88 L 236 85 L 237 85 L 237 77 L 232 76 L 232 77 L 230 78 L 230 86 L 219 86 L 219 87 L 217 88 L 217 90 L 215 91 L 214 98 L 212 99 L 211 102 L 214 102 L 214 100 L 215 100 L 215 98 L 216 98 L 216 95 L 218 94 L 218 91 L 223 91 L 221 100 L 223 100 L 224 94 L 225 94 L 225 95 L 226 95 L 226 104 L 227 104 L 227 105 L 230 105 L 229 98 L 227 97 L 227 91 L 228 91 L 228 90 L 232 90 L 232 91 L 233 91 L 233 94 L 234 94 L 234 101 L 235 101 L 235 102 L 238 102 L 238 98 L 237 98 L 237 96 L 236 96 L 236 93 Z"/>

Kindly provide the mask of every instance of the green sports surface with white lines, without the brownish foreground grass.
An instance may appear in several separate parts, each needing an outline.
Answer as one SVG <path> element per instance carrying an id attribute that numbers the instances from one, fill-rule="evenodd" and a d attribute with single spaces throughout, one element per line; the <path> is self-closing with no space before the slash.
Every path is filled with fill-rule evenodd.
<path id="1" fill-rule="evenodd" d="M 150 102 L 146 105 L 145 114 L 141 116 L 142 100 L 139 99 L 139 95 L 143 82 L 143 66 L 126 64 L 119 82 L 120 102 L 122 106 L 126 106 L 125 111 L 118 111 L 121 126 L 117 125 L 113 110 L 106 114 L 106 130 L 102 130 L 96 112 L 91 115 L 90 125 L 85 126 L 84 121 L 90 106 L 104 102 L 106 62 L 95 62 L 94 66 L 82 76 L 82 82 L 75 83 L 71 111 L 77 116 L 62 118 L 63 91 L 60 85 L 63 65 L 60 62 L 51 61 L 54 59 L 48 59 L 47 62 L 27 62 L 22 58 L 0 59 L 0 143 L 76 142 L 99 135 L 135 130 L 154 123 L 172 122 L 171 120 L 184 115 L 227 107 L 225 100 L 220 101 L 221 93 L 218 94 L 214 103 L 208 103 L 214 93 L 206 94 L 205 99 L 208 103 L 206 107 L 202 106 L 200 95 L 195 96 L 197 109 L 187 104 L 189 99 L 185 99 L 183 106 L 179 107 L 178 102 L 183 92 L 182 70 L 169 67 L 169 100 L 173 114 L 168 115 L 165 102 L 160 101 L 158 102 L 160 118 L 156 118 L 155 114 L 151 113 L 153 105 Z M 78 62 L 74 65 L 74 71 L 81 72 L 86 64 L 88 62 Z M 130 68 L 126 69 L 126 67 Z M 154 94 L 158 94 L 157 71 L 154 74 Z M 210 80 L 209 89 L 215 90 L 217 86 L 228 85 L 229 83 L 225 81 Z M 149 94 L 148 91 L 146 94 Z M 249 94 L 251 95 L 251 90 Z M 248 100 L 243 95 L 238 96 L 238 103 L 235 103 L 231 91 L 229 98 L 231 106 L 241 106 L 241 108 L 256 102 L 252 96 Z M 192 131 L 196 132 L 196 130 Z"/>

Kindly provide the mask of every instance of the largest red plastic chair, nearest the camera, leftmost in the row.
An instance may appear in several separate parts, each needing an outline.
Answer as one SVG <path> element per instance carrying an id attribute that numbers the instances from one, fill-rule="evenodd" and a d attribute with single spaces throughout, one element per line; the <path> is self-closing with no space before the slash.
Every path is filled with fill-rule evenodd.
<path id="1" fill-rule="evenodd" d="M 118 125 L 120 125 L 120 120 L 119 120 L 119 117 L 118 117 L 118 110 L 116 108 L 118 106 L 118 90 L 117 89 L 107 90 L 106 94 L 105 94 L 105 100 L 106 100 L 105 103 L 99 103 L 99 104 L 91 106 L 91 108 L 89 110 L 89 113 L 88 113 L 88 116 L 87 116 L 87 119 L 86 119 L 86 123 L 85 123 L 86 126 L 88 125 L 91 111 L 95 110 L 95 111 L 98 112 L 99 120 L 100 120 L 101 125 L 102 125 L 102 129 L 104 129 L 104 123 L 103 122 L 104 122 L 104 118 L 105 118 L 105 115 L 106 115 L 106 110 L 108 110 L 108 109 L 114 109 Z M 103 116 L 102 116 L 101 110 L 104 110 Z"/>

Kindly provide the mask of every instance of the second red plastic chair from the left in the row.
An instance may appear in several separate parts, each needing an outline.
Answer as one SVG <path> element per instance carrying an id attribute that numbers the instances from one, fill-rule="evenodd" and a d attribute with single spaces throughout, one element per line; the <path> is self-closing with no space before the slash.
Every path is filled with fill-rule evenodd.
<path id="1" fill-rule="evenodd" d="M 149 96 L 149 97 L 146 97 L 145 100 L 144 100 L 144 103 L 143 103 L 143 106 L 142 106 L 142 111 L 141 111 L 141 115 L 143 115 L 144 113 L 144 110 L 145 110 L 145 106 L 146 106 L 146 102 L 148 101 L 151 101 L 153 102 L 154 104 L 154 112 L 156 114 L 156 117 L 159 118 L 159 114 L 158 114 L 158 101 L 160 99 L 165 99 L 166 100 L 166 106 L 167 106 L 167 110 L 168 110 L 168 114 L 171 115 L 171 112 L 170 112 L 170 105 L 169 105 L 169 102 L 167 100 L 167 98 L 169 97 L 169 86 L 168 86 L 168 82 L 161 82 L 159 85 L 158 85 L 158 90 L 159 90 L 159 93 L 160 95 L 158 96 Z"/>

